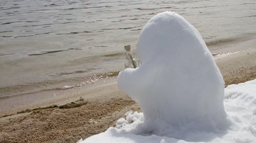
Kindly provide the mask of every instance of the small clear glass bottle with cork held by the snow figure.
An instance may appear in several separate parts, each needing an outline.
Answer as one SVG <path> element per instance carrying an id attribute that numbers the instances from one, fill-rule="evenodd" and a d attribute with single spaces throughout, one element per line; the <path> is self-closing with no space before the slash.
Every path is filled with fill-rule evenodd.
<path id="1" fill-rule="evenodd" d="M 137 68 L 140 66 L 140 60 L 133 57 L 133 51 L 131 50 L 131 45 L 125 45 L 125 68 Z"/>

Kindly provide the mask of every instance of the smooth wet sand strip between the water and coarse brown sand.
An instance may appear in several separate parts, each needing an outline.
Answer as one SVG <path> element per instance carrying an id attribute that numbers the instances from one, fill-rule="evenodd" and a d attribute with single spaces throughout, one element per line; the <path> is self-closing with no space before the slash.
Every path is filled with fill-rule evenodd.
<path id="1" fill-rule="evenodd" d="M 214 56 L 214 60 L 225 79 L 225 87 L 229 84 L 242 83 L 253 80 L 256 71 L 256 49 L 223 53 L 219 52 Z M 28 108 L 41 108 L 63 101 L 72 92 L 87 92 L 96 90 L 101 86 L 116 84 L 116 77 L 119 71 L 93 75 L 90 77 L 80 77 L 76 79 L 66 79 L 66 82 L 47 81 L 37 88 L 28 86 L 28 89 L 10 89 L 16 95 L 2 96 L 0 98 L 0 117 L 7 113 L 13 114 Z M 68 81 L 68 82 L 67 82 Z M 21 86 L 22 87 L 22 86 Z M 36 88 L 34 88 L 36 87 Z M 117 86 L 116 86 L 117 87 Z M 118 88 L 117 88 L 118 89 Z M 20 90 L 23 90 L 20 92 Z M 1 91 L 1 93 L 4 93 Z M 72 102 L 72 101 L 70 101 Z"/>

